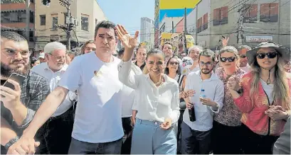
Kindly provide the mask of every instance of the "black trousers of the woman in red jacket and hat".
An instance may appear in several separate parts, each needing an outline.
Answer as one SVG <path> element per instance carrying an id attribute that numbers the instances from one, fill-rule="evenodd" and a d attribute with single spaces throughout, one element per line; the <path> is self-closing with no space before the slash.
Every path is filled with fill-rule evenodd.
<path id="1" fill-rule="evenodd" d="M 279 136 L 260 135 L 242 125 L 243 151 L 245 154 L 273 154 L 273 146 Z"/>

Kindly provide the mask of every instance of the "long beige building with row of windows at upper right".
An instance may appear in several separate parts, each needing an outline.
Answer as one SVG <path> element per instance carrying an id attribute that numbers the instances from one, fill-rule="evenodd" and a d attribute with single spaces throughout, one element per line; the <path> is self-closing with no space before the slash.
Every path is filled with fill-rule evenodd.
<path id="1" fill-rule="evenodd" d="M 196 45 L 211 50 L 221 48 L 222 36 L 235 47 L 273 41 L 290 48 L 290 1 L 202 0 L 187 16 L 187 31 Z"/>

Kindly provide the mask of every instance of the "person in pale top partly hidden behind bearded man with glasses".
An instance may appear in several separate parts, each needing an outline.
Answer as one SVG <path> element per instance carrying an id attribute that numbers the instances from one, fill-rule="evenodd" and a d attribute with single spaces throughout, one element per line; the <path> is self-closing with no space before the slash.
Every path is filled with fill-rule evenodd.
<path id="1" fill-rule="evenodd" d="M 198 45 L 194 45 L 189 48 L 188 55 L 193 60 L 193 65 L 190 68 L 185 68 L 182 66 L 182 64 L 180 64 L 181 74 L 187 75 L 191 72 L 198 71 L 200 69 L 199 64 L 198 64 L 198 57 L 199 57 L 199 54 L 202 52 L 202 50 L 203 50 L 203 47 L 198 46 Z"/>

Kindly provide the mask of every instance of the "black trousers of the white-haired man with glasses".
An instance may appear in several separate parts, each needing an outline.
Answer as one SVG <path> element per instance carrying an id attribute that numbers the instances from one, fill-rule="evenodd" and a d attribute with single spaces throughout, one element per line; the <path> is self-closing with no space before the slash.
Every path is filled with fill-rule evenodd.
<path id="1" fill-rule="evenodd" d="M 68 154 L 72 138 L 74 113 L 73 107 L 62 115 L 51 117 L 46 122 L 45 142 L 47 152 L 43 154 Z"/>

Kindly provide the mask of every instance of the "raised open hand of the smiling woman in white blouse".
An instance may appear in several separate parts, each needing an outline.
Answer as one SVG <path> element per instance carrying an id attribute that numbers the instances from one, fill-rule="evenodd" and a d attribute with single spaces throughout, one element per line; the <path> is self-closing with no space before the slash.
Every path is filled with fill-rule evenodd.
<path id="1" fill-rule="evenodd" d="M 115 32 L 117 33 L 117 37 L 121 41 L 125 49 L 134 49 L 134 47 L 137 47 L 137 38 L 139 36 L 139 31 L 136 31 L 134 37 L 132 37 L 127 33 L 125 27 L 123 27 L 122 25 L 117 25 Z"/>

